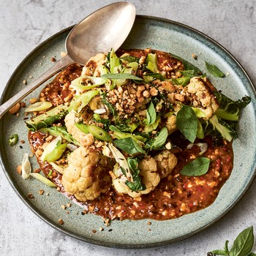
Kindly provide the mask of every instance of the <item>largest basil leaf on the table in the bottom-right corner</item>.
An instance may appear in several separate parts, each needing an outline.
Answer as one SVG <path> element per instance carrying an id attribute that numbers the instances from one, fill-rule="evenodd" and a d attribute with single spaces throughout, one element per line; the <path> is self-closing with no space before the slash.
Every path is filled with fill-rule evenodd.
<path id="1" fill-rule="evenodd" d="M 249 254 L 254 244 L 253 227 L 243 230 L 234 241 L 230 249 L 230 256 L 244 256 Z"/>

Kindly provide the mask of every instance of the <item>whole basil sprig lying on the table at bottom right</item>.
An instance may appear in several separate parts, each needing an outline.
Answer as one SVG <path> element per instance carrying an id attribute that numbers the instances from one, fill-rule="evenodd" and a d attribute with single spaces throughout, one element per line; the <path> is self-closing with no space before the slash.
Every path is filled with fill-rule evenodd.
<path id="1" fill-rule="evenodd" d="M 224 249 L 217 249 L 211 252 L 208 252 L 208 256 L 216 256 L 216 255 L 226 255 L 226 256 L 254 256 L 256 255 L 252 251 L 252 247 L 254 244 L 254 234 L 253 234 L 253 227 L 248 227 L 243 230 L 239 235 L 236 237 L 236 240 L 233 243 L 231 249 L 228 249 L 228 241 L 225 242 Z"/>

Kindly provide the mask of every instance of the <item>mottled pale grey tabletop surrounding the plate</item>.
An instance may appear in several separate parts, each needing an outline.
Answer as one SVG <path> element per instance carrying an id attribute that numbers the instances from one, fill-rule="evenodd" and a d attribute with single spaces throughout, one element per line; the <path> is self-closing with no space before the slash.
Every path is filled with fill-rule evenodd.
<path id="1" fill-rule="evenodd" d="M 20 61 L 40 42 L 114 1 L 0 0 L 0 95 Z M 176 20 L 227 48 L 256 84 L 256 1 L 131 0 L 137 13 Z M 1 138 L 0 138 L 1 140 Z M 157 249 L 108 249 L 76 241 L 25 206 L 0 167 L 0 255 L 206 255 L 244 228 L 256 228 L 255 185 L 217 225 L 187 241 Z M 256 247 L 255 247 L 256 249 Z"/>

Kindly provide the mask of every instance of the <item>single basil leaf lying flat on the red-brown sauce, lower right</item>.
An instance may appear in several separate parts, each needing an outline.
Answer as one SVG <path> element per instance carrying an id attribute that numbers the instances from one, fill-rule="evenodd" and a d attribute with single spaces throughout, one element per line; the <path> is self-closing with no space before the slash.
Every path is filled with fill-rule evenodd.
<path id="1" fill-rule="evenodd" d="M 209 165 L 210 159 L 197 157 L 182 168 L 181 174 L 184 176 L 201 176 L 207 173 Z"/>

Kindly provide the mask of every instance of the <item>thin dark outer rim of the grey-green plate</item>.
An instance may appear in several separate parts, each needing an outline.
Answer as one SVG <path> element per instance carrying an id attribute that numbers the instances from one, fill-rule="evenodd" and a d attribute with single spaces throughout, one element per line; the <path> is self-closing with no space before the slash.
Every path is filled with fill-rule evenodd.
<path id="1" fill-rule="evenodd" d="M 210 41 L 211 43 L 216 45 L 217 48 L 221 48 L 227 54 L 227 56 L 229 56 L 232 59 L 232 61 L 234 61 L 238 65 L 238 68 L 241 69 L 241 72 L 243 72 L 243 74 L 245 75 L 246 79 L 248 80 L 249 85 L 251 86 L 252 91 L 254 91 L 254 93 L 256 94 L 255 86 L 252 83 L 252 80 L 249 77 L 249 75 L 247 74 L 247 72 L 244 69 L 244 67 L 242 67 L 240 62 L 233 56 L 232 53 L 230 53 L 226 48 L 224 48 L 222 45 L 220 45 L 219 42 L 217 42 L 215 39 L 212 39 L 211 37 L 208 37 L 208 35 L 204 34 L 201 31 L 198 31 L 197 29 L 192 28 L 191 26 L 188 26 L 188 25 L 186 25 L 184 23 L 179 23 L 179 22 L 177 22 L 175 20 L 169 20 L 167 18 L 158 18 L 158 17 L 154 17 L 154 16 L 150 16 L 150 15 L 136 15 L 135 22 L 136 22 L 136 20 L 140 20 L 140 19 L 144 19 L 144 20 L 148 19 L 148 20 L 155 20 L 155 21 L 158 21 L 158 22 L 170 23 L 170 24 L 179 26 L 179 27 L 181 27 L 183 29 L 188 29 L 189 31 L 194 32 L 195 34 L 199 34 L 200 37 L 204 37 L 205 39 L 207 39 L 208 41 Z M 41 42 L 39 45 L 37 45 L 36 48 L 31 50 L 30 53 L 28 53 L 26 55 L 26 57 L 20 62 L 20 64 L 18 64 L 18 67 L 16 67 L 15 70 L 12 72 L 12 75 L 10 76 L 9 80 L 7 81 L 7 85 L 4 87 L 4 91 L 1 94 L 0 104 L 4 103 L 4 98 L 6 98 L 5 94 L 7 94 L 7 89 L 9 88 L 10 83 L 12 82 L 13 78 L 15 77 L 15 74 L 18 72 L 20 67 L 22 67 L 23 64 L 27 61 L 27 59 L 29 59 L 31 57 L 31 55 L 33 55 L 33 53 L 37 52 L 37 50 L 42 48 L 43 45 L 47 44 L 48 42 L 50 42 L 55 37 L 61 36 L 61 34 L 65 34 L 65 33 L 69 32 L 74 26 L 75 25 L 72 25 L 72 26 L 69 26 L 69 27 L 67 27 L 65 29 L 61 29 L 61 31 L 58 31 L 56 34 L 51 35 L 50 37 L 48 37 L 43 42 Z M 115 249 L 149 249 L 149 248 L 157 248 L 157 247 L 161 247 L 161 246 L 167 246 L 167 245 L 170 245 L 170 244 L 175 244 L 175 243 L 180 242 L 180 241 L 185 241 L 188 238 L 192 238 L 193 236 L 196 236 L 198 233 L 201 233 L 201 232 L 207 230 L 209 227 L 212 227 L 213 225 L 216 225 L 217 222 L 219 222 L 221 219 L 223 219 L 223 217 L 225 217 L 227 214 L 229 214 L 230 211 L 232 211 L 233 208 L 235 208 L 235 206 L 240 202 L 241 198 L 244 197 L 244 195 L 246 194 L 248 189 L 252 186 L 252 183 L 253 183 L 253 181 L 255 181 L 255 177 L 256 177 L 256 169 L 255 169 L 255 170 L 253 170 L 254 173 L 252 175 L 252 178 L 249 181 L 249 184 L 243 190 L 243 192 L 241 192 L 241 195 L 236 199 L 236 201 L 234 201 L 228 208 L 226 208 L 225 212 L 220 214 L 213 221 L 208 222 L 207 225 L 205 225 L 203 227 L 200 227 L 199 230 L 195 230 L 192 233 L 186 234 L 184 236 L 180 236 L 178 238 L 172 238 L 172 239 L 169 239 L 169 240 L 160 241 L 160 242 L 154 242 L 154 243 L 150 243 L 150 244 L 145 244 L 145 243 L 143 243 L 143 244 L 125 244 L 125 243 L 117 244 L 117 243 L 113 243 L 113 242 L 98 241 L 97 239 L 92 239 L 92 238 L 85 238 L 85 237 L 77 235 L 77 234 L 75 234 L 75 233 L 73 233 L 71 231 L 64 230 L 60 226 L 56 225 L 56 223 L 54 223 L 47 216 L 42 216 L 42 214 L 40 214 L 40 212 L 37 210 L 37 208 L 35 206 L 33 206 L 30 203 L 30 201 L 27 200 L 27 198 L 24 195 L 22 195 L 20 189 L 18 187 L 15 187 L 15 181 L 12 180 L 12 177 L 10 176 L 9 172 L 7 171 L 7 166 L 4 165 L 4 160 L 3 159 L 4 159 L 3 158 L 3 154 L 0 151 L 0 164 L 1 164 L 1 167 L 2 167 L 2 169 L 4 171 L 5 176 L 7 177 L 7 180 L 9 181 L 12 189 L 14 189 L 15 193 L 18 195 L 20 200 L 22 200 L 23 203 L 25 203 L 25 205 L 27 207 L 29 207 L 31 212 L 33 212 L 40 219 L 42 219 L 43 221 L 48 223 L 48 225 L 50 225 L 51 227 L 55 228 L 59 232 L 64 233 L 67 236 L 70 236 L 72 238 L 78 239 L 79 241 L 86 242 L 88 244 L 93 244 L 93 245 L 103 246 L 103 247 L 108 247 L 108 248 L 115 248 Z"/>

